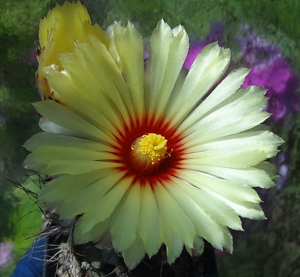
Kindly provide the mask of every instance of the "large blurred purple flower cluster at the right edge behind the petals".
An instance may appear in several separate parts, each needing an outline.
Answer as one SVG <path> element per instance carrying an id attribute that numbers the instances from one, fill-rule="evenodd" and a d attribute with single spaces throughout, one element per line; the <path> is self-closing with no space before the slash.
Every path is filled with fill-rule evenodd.
<path id="1" fill-rule="evenodd" d="M 292 74 L 288 61 L 281 57 L 278 46 L 249 31 L 247 24 L 241 27 L 244 34 L 237 38 L 241 44 L 241 63 L 252 68 L 243 86 L 259 85 L 268 89 L 266 110 L 272 113 L 270 118 L 275 121 L 291 111 L 298 111 L 299 97 L 296 89 L 300 84 L 299 76 Z"/>

